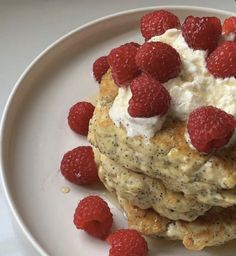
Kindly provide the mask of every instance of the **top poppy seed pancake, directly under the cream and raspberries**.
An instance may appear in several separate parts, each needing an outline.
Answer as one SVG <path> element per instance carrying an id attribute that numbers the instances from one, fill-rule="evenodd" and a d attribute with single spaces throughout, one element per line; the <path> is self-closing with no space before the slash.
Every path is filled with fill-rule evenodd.
<path id="1" fill-rule="evenodd" d="M 160 179 L 170 190 L 183 192 L 198 202 L 229 207 L 236 204 L 236 147 L 216 154 L 200 154 L 185 141 L 186 123 L 167 118 L 162 129 L 147 141 L 128 137 L 116 127 L 109 109 L 118 93 L 111 72 L 104 75 L 88 139 L 99 151 L 138 173 Z"/>

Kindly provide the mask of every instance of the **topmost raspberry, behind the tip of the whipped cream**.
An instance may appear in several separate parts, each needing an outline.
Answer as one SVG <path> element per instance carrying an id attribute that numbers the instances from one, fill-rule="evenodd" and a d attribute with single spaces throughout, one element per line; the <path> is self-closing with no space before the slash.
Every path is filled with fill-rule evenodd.
<path id="1" fill-rule="evenodd" d="M 170 28 L 178 28 L 179 26 L 178 17 L 165 10 L 145 14 L 140 21 L 141 33 L 146 40 L 161 35 Z"/>

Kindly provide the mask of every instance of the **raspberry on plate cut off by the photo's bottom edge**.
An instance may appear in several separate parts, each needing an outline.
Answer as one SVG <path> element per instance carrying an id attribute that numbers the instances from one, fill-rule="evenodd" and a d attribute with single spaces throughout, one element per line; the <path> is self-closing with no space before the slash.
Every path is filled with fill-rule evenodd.
<path id="1" fill-rule="evenodd" d="M 107 238 L 111 245 L 109 256 L 146 256 L 148 245 L 145 239 L 132 229 L 120 229 Z"/>

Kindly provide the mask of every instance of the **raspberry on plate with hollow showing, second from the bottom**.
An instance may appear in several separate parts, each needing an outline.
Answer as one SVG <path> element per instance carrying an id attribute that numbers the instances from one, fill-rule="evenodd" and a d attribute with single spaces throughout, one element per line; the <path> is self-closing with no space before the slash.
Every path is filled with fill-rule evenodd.
<path id="1" fill-rule="evenodd" d="M 107 203 L 99 196 L 82 199 L 74 213 L 74 224 L 88 234 L 105 239 L 113 223 L 112 213 Z"/>

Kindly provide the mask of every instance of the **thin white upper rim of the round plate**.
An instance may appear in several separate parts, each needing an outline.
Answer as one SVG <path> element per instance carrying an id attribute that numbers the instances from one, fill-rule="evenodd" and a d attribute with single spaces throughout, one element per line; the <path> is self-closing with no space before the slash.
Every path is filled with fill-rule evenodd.
<path id="1" fill-rule="evenodd" d="M 100 18 L 94 19 L 92 21 L 89 21 L 79 27 L 76 27 L 75 29 L 69 31 L 65 35 L 59 37 L 54 42 L 49 44 L 49 46 L 46 47 L 43 51 L 41 51 L 30 62 L 30 64 L 25 68 L 23 73 L 19 76 L 19 78 L 15 82 L 13 89 L 11 90 L 11 93 L 10 93 L 10 95 L 6 101 L 5 107 L 3 109 L 1 122 L 0 122 L 0 180 L 1 180 L 1 184 L 2 184 L 3 194 L 6 198 L 7 204 L 10 208 L 10 212 L 11 212 L 14 220 L 16 221 L 17 225 L 20 227 L 24 237 L 28 240 L 28 242 L 35 249 L 35 251 L 37 253 L 39 253 L 39 255 L 52 256 L 52 255 L 49 255 L 46 252 L 46 250 L 39 244 L 39 242 L 36 240 L 36 238 L 32 235 L 30 229 L 26 226 L 26 224 L 22 220 L 22 217 L 15 205 L 14 198 L 11 195 L 10 188 L 7 184 L 6 175 L 5 175 L 6 168 L 4 165 L 5 160 L 3 157 L 3 154 L 4 154 L 3 153 L 4 152 L 3 141 L 4 141 L 4 135 L 6 133 L 6 131 L 5 131 L 6 130 L 6 127 L 5 127 L 6 120 L 8 118 L 10 106 L 14 102 L 14 97 L 15 97 L 17 91 L 20 90 L 20 85 L 21 85 L 22 81 L 24 80 L 24 78 L 28 75 L 28 73 L 30 73 L 30 71 L 34 68 L 34 66 L 37 65 L 39 60 L 41 60 L 48 52 L 52 51 L 59 44 L 63 43 L 64 40 L 67 40 L 69 37 L 72 37 L 74 34 L 78 33 L 79 31 L 87 29 L 87 28 L 94 26 L 98 23 L 102 23 L 103 21 L 118 18 L 120 16 L 130 15 L 133 13 L 144 12 L 144 11 L 148 12 L 148 11 L 158 10 L 158 9 L 167 9 L 167 10 L 169 10 L 169 9 L 175 9 L 175 10 L 185 9 L 185 10 L 190 10 L 190 11 L 196 10 L 196 11 L 204 11 L 204 12 L 206 12 L 206 11 L 215 12 L 215 13 L 220 13 L 220 14 L 227 15 L 227 16 L 235 16 L 236 15 L 234 12 L 230 12 L 227 10 L 220 10 L 220 9 L 216 9 L 216 8 L 209 8 L 209 7 L 202 7 L 202 6 L 191 6 L 191 5 L 159 5 L 159 6 L 157 5 L 156 6 L 156 5 L 154 5 L 154 6 L 148 6 L 148 7 L 128 9 L 125 11 L 120 11 L 120 12 L 116 12 L 116 13 L 112 13 L 112 14 L 100 17 Z"/>

